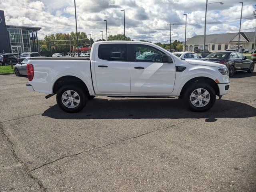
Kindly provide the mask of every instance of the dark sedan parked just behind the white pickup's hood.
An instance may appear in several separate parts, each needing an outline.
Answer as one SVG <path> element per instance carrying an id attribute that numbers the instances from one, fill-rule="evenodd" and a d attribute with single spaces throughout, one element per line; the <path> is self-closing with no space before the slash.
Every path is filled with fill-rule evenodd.
<path id="1" fill-rule="evenodd" d="M 254 71 L 254 62 L 238 52 L 214 52 L 206 56 L 206 58 L 202 58 L 202 60 L 226 65 L 229 70 L 229 76 L 233 76 L 236 71 L 247 71 L 248 73 Z"/>

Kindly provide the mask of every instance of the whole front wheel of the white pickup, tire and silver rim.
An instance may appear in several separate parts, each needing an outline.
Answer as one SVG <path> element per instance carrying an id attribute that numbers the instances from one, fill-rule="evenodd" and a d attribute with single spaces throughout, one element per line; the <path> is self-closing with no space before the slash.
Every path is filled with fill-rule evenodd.
<path id="1" fill-rule="evenodd" d="M 186 89 L 183 100 L 190 110 L 204 112 L 214 105 L 216 93 L 212 86 L 206 83 L 196 83 Z"/>

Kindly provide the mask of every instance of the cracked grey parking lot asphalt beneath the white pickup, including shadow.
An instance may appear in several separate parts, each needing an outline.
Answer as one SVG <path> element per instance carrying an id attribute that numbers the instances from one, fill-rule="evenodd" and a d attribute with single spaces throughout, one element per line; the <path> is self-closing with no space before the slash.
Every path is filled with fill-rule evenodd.
<path id="1" fill-rule="evenodd" d="M 100 96 L 68 114 L 27 82 L 0 76 L 0 191 L 256 191 L 256 72 L 204 113 Z"/>

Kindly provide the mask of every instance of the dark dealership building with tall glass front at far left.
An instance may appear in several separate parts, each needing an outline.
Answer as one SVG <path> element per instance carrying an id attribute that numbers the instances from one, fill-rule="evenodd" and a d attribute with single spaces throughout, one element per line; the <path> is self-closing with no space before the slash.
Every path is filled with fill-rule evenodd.
<path id="1" fill-rule="evenodd" d="M 40 27 L 6 25 L 0 10 L 0 53 L 39 52 L 37 32 Z"/>

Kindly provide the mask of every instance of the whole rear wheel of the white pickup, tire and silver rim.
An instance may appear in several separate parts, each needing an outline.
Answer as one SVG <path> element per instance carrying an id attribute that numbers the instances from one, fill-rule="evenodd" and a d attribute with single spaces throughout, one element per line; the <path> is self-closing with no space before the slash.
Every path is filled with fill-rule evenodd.
<path id="1" fill-rule="evenodd" d="M 84 108 L 87 95 L 75 85 L 63 86 L 58 90 L 56 100 L 58 106 L 65 112 L 76 113 Z"/>

